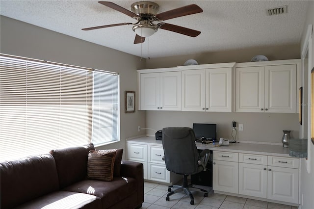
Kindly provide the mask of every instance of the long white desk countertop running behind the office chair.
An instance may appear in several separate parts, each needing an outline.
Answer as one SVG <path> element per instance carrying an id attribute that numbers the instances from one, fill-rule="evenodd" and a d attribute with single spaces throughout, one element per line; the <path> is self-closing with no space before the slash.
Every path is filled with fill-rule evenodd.
<path id="1" fill-rule="evenodd" d="M 156 140 L 154 136 L 143 136 L 139 138 L 127 139 L 127 143 L 162 146 L 161 140 Z M 282 145 L 268 145 L 259 143 L 230 143 L 229 146 L 214 147 L 211 144 L 196 142 L 197 149 L 209 149 L 213 151 L 226 151 L 235 153 L 248 153 L 257 155 L 269 155 L 279 157 L 289 157 L 289 148 Z"/>

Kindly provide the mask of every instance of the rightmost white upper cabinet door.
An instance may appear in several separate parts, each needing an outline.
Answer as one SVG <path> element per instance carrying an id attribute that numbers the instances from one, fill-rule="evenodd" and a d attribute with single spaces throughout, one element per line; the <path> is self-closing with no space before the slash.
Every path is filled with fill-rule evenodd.
<path id="1" fill-rule="evenodd" d="M 265 112 L 296 112 L 296 64 L 265 67 Z"/>

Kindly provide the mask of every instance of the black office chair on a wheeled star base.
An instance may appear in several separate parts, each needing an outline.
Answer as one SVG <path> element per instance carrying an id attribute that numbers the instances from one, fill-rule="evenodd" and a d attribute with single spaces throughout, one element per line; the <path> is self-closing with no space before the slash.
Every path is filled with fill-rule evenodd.
<path id="1" fill-rule="evenodd" d="M 195 134 L 191 128 L 168 127 L 162 129 L 162 146 L 164 151 L 163 159 L 166 162 L 168 171 L 183 175 L 183 185 L 171 185 L 168 187 L 168 194 L 166 201 L 169 201 L 169 196 L 184 191 L 189 195 L 190 204 L 194 205 L 194 197 L 189 190 L 193 187 L 192 184 L 187 183 L 187 177 L 191 174 L 196 174 L 206 170 L 206 164 L 209 160 L 210 151 L 203 150 L 198 153 L 195 145 Z M 176 188 L 171 190 L 171 188 Z M 208 191 L 205 192 L 204 197 L 208 197 Z"/>

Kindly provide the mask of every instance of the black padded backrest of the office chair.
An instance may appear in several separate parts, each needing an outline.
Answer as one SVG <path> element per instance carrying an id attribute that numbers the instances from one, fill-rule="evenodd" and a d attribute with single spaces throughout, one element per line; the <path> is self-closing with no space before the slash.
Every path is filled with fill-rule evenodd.
<path id="1" fill-rule="evenodd" d="M 199 154 L 191 128 L 168 127 L 162 129 L 162 146 L 166 168 L 178 174 L 194 174 L 198 170 Z"/>

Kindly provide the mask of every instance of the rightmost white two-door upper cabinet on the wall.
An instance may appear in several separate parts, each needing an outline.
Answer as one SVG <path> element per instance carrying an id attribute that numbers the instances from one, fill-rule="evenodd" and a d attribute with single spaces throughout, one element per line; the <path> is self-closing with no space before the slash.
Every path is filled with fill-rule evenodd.
<path id="1" fill-rule="evenodd" d="M 235 77 L 236 112 L 296 112 L 297 64 L 236 67 Z"/>

